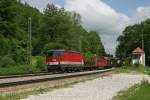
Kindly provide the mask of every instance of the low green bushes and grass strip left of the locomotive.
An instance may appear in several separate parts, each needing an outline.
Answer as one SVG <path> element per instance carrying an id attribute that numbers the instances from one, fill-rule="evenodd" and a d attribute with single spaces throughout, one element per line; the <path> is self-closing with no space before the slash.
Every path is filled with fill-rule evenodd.
<path id="1" fill-rule="evenodd" d="M 33 57 L 32 65 L 19 65 L 9 56 L 0 58 L 0 75 L 3 74 L 28 74 L 47 71 L 44 57 Z"/>

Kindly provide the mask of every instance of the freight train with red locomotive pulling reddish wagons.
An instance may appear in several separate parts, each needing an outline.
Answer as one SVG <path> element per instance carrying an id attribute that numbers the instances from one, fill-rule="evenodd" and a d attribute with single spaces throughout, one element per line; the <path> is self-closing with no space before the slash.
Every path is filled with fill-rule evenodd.
<path id="1" fill-rule="evenodd" d="M 49 72 L 81 71 L 113 67 L 111 57 L 97 56 L 86 61 L 83 54 L 67 50 L 47 50 L 46 63 Z"/>

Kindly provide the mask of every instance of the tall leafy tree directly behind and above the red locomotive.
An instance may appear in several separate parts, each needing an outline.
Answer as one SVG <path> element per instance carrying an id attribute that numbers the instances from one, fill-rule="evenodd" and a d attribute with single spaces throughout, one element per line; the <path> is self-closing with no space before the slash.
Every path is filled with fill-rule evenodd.
<path id="1" fill-rule="evenodd" d="M 77 14 L 48 5 L 40 30 L 42 46 L 54 43 L 64 45 L 63 49 L 78 50 L 81 26 L 77 20 Z"/>

